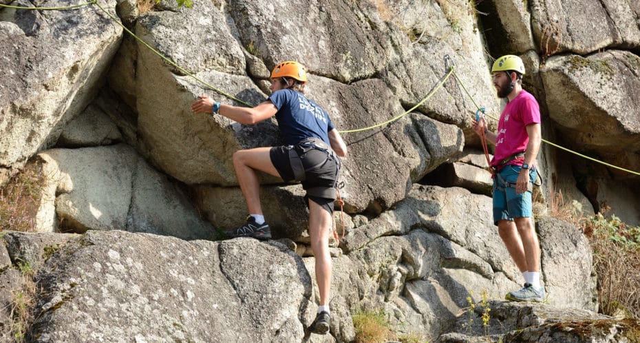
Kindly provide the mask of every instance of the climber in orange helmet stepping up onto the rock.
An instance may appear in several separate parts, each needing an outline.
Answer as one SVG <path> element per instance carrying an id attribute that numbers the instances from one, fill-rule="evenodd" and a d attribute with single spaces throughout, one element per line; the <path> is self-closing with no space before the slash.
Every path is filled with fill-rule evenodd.
<path id="1" fill-rule="evenodd" d="M 295 61 L 279 63 L 273 68 L 270 81 L 272 94 L 256 107 L 236 107 L 215 102 L 208 96 L 199 96 L 191 110 L 213 112 L 245 125 L 275 116 L 286 145 L 239 150 L 233 154 L 233 167 L 249 215 L 244 225 L 227 234 L 259 240 L 271 238 L 271 230 L 260 205 L 256 171 L 264 171 L 285 181 L 302 182 L 309 207 L 309 235 L 320 295 L 317 317 L 309 331 L 324 334 L 330 325 L 328 301 L 332 267 L 329 233 L 340 169 L 338 156 L 344 157 L 347 147 L 328 113 L 303 94 L 307 83 L 303 65 Z"/>

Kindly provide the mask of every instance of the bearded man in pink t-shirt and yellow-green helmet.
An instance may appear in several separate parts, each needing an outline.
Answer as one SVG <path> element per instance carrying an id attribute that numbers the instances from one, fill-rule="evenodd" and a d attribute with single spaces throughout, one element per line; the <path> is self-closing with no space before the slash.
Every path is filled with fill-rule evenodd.
<path id="1" fill-rule="evenodd" d="M 540 107 L 533 95 L 522 89 L 524 63 L 520 57 L 500 57 L 491 72 L 498 96 L 507 98 L 498 133 L 489 131 L 484 118 L 474 120 L 473 129 L 495 144 L 491 160 L 495 172 L 493 222 L 524 277 L 524 287 L 508 293 L 506 300 L 542 302 L 546 293 L 540 282 L 540 243 L 531 218 L 531 194 L 537 177 L 535 158 L 541 141 Z"/>

